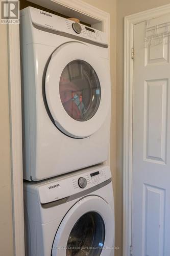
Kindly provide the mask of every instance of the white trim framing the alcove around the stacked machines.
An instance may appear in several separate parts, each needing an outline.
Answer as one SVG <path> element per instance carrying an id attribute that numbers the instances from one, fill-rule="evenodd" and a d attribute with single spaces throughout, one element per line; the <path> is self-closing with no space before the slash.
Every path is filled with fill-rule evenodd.
<path id="1" fill-rule="evenodd" d="M 30 0 L 35 2 L 35 0 Z M 81 0 L 39 0 L 42 6 L 51 6 L 53 2 L 70 13 L 79 13 L 83 17 L 95 18 L 99 21 L 93 26 L 102 28 L 110 40 L 110 14 L 91 6 Z M 8 69 L 9 69 L 9 110 L 11 139 L 11 186 L 13 210 L 14 255 L 25 256 L 25 235 L 23 217 L 23 175 L 22 175 L 22 115 L 21 115 L 21 74 L 19 25 L 8 25 Z"/>

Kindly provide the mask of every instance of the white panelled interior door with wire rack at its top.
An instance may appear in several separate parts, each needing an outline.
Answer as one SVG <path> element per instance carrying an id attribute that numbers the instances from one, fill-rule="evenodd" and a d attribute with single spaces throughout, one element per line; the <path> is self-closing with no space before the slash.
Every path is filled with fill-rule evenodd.
<path id="1" fill-rule="evenodd" d="M 151 20 L 150 27 L 170 21 Z M 147 23 L 134 26 L 132 254 L 170 255 L 169 38 L 144 45 Z"/>

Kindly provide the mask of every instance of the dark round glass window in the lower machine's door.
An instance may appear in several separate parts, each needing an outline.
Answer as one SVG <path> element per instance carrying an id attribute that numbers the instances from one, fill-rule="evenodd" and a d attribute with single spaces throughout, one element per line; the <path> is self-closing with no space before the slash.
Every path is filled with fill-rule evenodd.
<path id="1" fill-rule="evenodd" d="M 105 224 L 98 212 L 87 212 L 72 228 L 66 256 L 99 256 L 105 241 Z"/>

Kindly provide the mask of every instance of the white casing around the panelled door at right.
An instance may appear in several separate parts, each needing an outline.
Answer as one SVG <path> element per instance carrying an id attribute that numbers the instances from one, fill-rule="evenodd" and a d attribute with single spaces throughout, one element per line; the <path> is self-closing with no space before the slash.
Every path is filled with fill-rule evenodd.
<path id="1" fill-rule="evenodd" d="M 124 23 L 124 168 L 123 256 L 130 256 L 132 242 L 132 125 L 134 25 L 170 13 L 170 4 L 125 17 Z M 135 53 L 134 53 L 135 54 Z M 134 56 L 135 57 L 135 56 Z"/>

